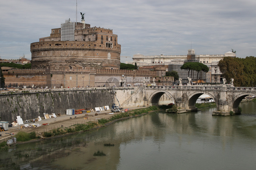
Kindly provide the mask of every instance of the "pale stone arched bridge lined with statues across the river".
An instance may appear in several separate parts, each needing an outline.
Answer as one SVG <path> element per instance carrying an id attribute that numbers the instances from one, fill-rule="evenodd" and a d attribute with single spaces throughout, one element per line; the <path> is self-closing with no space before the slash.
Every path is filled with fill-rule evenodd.
<path id="1" fill-rule="evenodd" d="M 123 92 L 122 92 L 123 94 Z M 240 114 L 238 105 L 248 95 L 256 96 L 256 88 L 221 86 L 141 86 L 128 97 L 122 97 L 122 106 L 158 105 L 160 98 L 166 95 L 170 101 L 180 108 L 179 113 L 197 110 L 196 100 L 202 94 L 207 94 L 216 102 L 217 110 L 213 115 L 227 116 Z M 119 96 L 121 97 L 121 96 Z M 124 101 L 125 100 L 125 101 Z"/>

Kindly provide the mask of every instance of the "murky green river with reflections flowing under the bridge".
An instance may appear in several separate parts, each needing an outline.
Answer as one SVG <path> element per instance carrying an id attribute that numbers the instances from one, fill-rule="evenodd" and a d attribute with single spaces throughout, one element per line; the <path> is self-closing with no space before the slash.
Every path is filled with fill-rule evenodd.
<path id="1" fill-rule="evenodd" d="M 256 102 L 240 107 L 241 115 L 229 117 L 212 116 L 216 108 L 156 111 L 88 132 L 19 144 L 1 152 L 0 169 L 255 169 Z M 106 156 L 93 156 L 98 150 Z"/>

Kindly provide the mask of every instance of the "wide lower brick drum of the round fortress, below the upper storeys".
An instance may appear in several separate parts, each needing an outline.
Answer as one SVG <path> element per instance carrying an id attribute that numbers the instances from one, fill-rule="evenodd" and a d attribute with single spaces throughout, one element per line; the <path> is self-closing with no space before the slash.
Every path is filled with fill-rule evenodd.
<path id="1" fill-rule="evenodd" d="M 95 42 L 34 42 L 30 51 L 34 69 L 52 66 L 120 67 L 121 45 L 111 48 L 102 47 Z"/>

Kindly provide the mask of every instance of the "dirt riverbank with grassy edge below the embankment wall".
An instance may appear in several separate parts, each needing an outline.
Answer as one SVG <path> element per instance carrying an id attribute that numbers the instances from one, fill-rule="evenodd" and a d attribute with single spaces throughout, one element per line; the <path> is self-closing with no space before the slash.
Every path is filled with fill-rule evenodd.
<path id="1" fill-rule="evenodd" d="M 101 111 L 97 116 L 95 116 L 96 112 L 91 112 L 88 114 L 88 119 L 85 119 L 85 114 L 78 114 L 78 115 L 61 115 L 57 117 L 56 120 L 54 118 L 50 119 L 43 119 L 41 120 L 40 124 L 48 124 L 48 125 L 40 125 L 37 128 L 18 128 L 12 127 L 8 131 L 8 134 L 1 132 L 2 137 L 0 142 L 6 142 L 8 139 L 12 139 L 17 134 L 21 134 L 22 137 L 29 136 L 30 133 L 35 132 L 36 139 L 32 139 L 29 141 L 20 141 L 19 143 L 25 142 L 35 142 L 38 140 L 51 138 L 54 136 L 66 135 L 76 132 L 88 131 L 91 129 L 99 128 L 109 123 L 113 123 L 114 121 L 121 120 L 124 118 L 134 117 L 142 115 L 145 112 L 157 110 L 157 107 L 135 107 L 129 108 L 129 112 L 124 113 L 111 113 L 110 110 Z M 32 124 L 32 123 L 30 123 Z M 23 132 L 23 133 L 19 133 Z M 13 135 L 10 135 L 13 134 Z"/>

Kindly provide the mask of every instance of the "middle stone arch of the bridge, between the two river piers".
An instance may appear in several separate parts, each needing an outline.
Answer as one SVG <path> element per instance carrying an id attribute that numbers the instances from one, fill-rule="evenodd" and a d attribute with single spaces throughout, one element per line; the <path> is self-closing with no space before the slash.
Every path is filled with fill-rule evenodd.
<path id="1" fill-rule="evenodd" d="M 211 98 L 213 98 L 213 100 L 215 101 L 216 105 L 217 105 L 217 109 L 218 109 L 218 100 L 217 98 L 214 96 L 214 94 L 212 93 L 209 93 L 207 91 L 196 91 L 192 94 L 190 94 L 188 96 L 188 100 L 185 101 L 185 108 L 188 108 L 188 109 L 193 109 L 196 105 L 196 100 L 202 95 L 202 94 L 207 94 L 209 95 Z"/>

